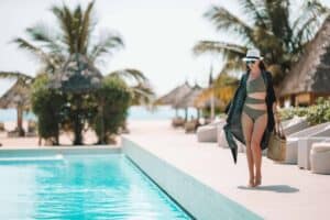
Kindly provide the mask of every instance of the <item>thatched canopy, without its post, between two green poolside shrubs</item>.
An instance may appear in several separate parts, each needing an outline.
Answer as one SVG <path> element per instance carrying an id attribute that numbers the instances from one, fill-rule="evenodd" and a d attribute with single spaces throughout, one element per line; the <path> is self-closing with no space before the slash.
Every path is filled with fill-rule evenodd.
<path id="1" fill-rule="evenodd" d="M 88 92 L 99 88 L 101 73 L 82 54 L 73 54 L 51 78 L 50 87 L 70 92 Z"/>

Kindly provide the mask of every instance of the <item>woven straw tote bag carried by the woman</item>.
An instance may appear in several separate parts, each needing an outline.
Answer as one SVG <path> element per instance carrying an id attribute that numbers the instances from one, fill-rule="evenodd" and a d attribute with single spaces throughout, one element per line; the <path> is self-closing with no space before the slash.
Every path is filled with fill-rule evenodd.
<path id="1" fill-rule="evenodd" d="M 277 128 L 271 133 L 267 148 L 267 157 L 276 161 L 283 162 L 285 160 L 286 153 L 286 136 L 284 134 L 280 122 L 277 122 Z"/>

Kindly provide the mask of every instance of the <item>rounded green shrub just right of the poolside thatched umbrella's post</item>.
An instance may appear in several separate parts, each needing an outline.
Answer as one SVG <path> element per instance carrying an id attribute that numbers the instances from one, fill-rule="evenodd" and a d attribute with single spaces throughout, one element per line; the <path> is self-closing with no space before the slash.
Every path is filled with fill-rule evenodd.
<path id="1" fill-rule="evenodd" d="M 125 122 L 132 94 L 123 80 L 108 77 L 97 91 L 98 114 L 95 119 L 95 130 L 99 143 L 107 143 L 108 138 L 117 134 Z"/>

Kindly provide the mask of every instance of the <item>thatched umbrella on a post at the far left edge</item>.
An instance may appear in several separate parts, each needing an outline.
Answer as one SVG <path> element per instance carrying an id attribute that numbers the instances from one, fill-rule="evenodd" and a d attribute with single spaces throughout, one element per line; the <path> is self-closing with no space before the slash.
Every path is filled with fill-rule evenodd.
<path id="1" fill-rule="evenodd" d="M 16 82 L 0 98 L 1 109 L 16 109 L 18 112 L 18 132 L 20 136 L 24 135 L 23 111 L 30 108 L 30 84 L 19 78 Z"/>

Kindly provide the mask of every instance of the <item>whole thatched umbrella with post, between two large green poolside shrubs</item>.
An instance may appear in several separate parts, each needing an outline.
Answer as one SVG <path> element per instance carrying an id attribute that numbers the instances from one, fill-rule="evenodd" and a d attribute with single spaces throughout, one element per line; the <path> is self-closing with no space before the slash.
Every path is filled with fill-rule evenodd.
<path id="1" fill-rule="evenodd" d="M 73 120 L 75 132 L 75 145 L 82 143 L 82 121 L 79 114 L 81 111 L 82 96 L 89 94 L 101 86 L 103 76 L 82 54 L 73 54 L 62 68 L 57 69 L 51 77 L 50 88 L 61 89 L 63 92 L 73 94 L 75 97 L 75 117 Z M 103 116 L 103 101 L 101 100 L 98 111 Z M 103 120 L 102 120 L 103 121 Z M 102 124 L 103 127 L 103 124 Z M 103 135 L 105 129 L 102 129 Z"/>

